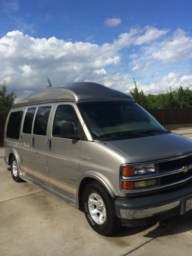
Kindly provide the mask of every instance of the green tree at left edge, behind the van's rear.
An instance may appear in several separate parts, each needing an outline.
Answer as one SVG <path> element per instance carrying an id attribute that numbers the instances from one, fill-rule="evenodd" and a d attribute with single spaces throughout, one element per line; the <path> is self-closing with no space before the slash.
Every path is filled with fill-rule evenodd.
<path id="1" fill-rule="evenodd" d="M 0 114 L 8 114 L 13 100 L 16 98 L 14 91 L 7 93 L 6 82 L 0 84 Z"/>

